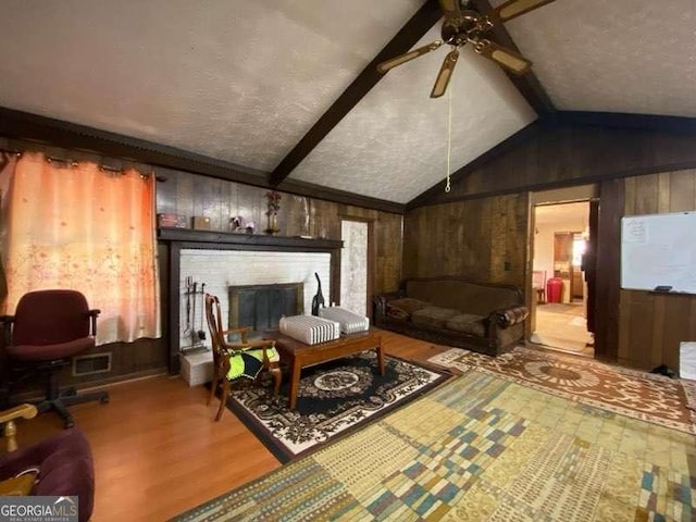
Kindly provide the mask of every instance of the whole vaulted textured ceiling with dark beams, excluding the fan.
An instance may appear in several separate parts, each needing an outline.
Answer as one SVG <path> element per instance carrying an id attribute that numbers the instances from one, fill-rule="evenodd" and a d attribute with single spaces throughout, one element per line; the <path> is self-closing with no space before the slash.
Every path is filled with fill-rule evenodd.
<path id="1" fill-rule="evenodd" d="M 375 70 L 439 38 L 435 0 L 2 3 L 0 107 L 281 189 L 402 204 L 557 111 L 696 117 L 694 0 L 557 0 L 493 34 L 531 74 L 465 46 L 438 99 L 446 48 Z"/>

